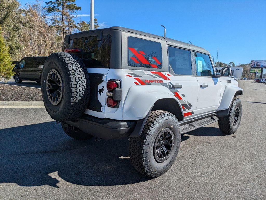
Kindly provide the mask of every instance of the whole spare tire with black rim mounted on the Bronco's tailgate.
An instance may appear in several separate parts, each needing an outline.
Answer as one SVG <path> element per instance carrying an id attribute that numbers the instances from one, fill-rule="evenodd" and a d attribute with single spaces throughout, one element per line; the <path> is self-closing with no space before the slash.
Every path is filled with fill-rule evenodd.
<path id="1" fill-rule="evenodd" d="M 71 121 L 85 112 L 90 81 L 82 60 L 72 54 L 50 54 L 43 66 L 41 93 L 48 114 L 56 121 Z"/>

